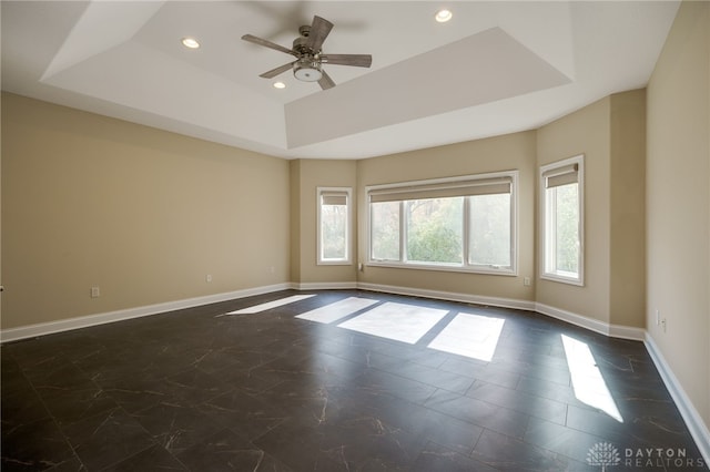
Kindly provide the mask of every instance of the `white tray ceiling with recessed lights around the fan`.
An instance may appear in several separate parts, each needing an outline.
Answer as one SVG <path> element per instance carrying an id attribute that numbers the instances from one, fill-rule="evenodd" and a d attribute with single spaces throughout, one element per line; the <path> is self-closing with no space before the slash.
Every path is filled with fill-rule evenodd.
<path id="1" fill-rule="evenodd" d="M 642 88 L 678 1 L 7 1 L 2 89 L 270 155 L 362 158 L 538 127 Z M 449 8 L 454 18 L 437 23 Z M 321 91 L 291 48 L 318 14 Z M 184 37 L 202 47 L 187 50 Z"/>

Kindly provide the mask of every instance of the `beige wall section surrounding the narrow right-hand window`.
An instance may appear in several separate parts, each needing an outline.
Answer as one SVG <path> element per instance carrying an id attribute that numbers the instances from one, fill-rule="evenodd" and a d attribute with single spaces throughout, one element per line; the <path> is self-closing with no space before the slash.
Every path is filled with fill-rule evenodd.
<path id="1" fill-rule="evenodd" d="M 602 99 L 537 133 L 538 166 L 585 155 L 584 287 L 544 280 L 537 271 L 537 301 L 609 322 L 611 98 Z"/>

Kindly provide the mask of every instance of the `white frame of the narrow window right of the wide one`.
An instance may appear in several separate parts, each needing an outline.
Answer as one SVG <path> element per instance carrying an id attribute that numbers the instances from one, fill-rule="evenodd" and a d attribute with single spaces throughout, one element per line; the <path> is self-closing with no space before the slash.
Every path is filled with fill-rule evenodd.
<path id="1" fill-rule="evenodd" d="M 551 164 L 540 166 L 539 173 L 539 270 L 540 278 L 547 280 L 554 280 L 562 284 L 570 284 L 577 286 L 585 285 L 585 156 L 584 154 L 558 161 Z M 547 202 L 547 184 L 546 178 L 556 172 L 564 173 L 566 168 L 576 166 L 577 172 L 577 191 L 578 191 L 578 204 L 579 204 L 579 259 L 578 259 L 578 274 L 577 276 L 567 275 L 561 271 L 549 271 L 548 266 L 550 264 L 550 257 L 555 257 L 554 252 L 550 249 L 550 239 L 548 236 L 551 232 L 551 224 L 548 216 L 548 202 Z"/>

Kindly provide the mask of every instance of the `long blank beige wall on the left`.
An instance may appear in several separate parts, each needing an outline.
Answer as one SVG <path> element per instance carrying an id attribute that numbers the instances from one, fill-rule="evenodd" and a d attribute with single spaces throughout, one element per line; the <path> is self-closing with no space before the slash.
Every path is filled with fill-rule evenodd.
<path id="1" fill-rule="evenodd" d="M 288 281 L 288 187 L 280 158 L 3 93 L 2 329 Z"/>

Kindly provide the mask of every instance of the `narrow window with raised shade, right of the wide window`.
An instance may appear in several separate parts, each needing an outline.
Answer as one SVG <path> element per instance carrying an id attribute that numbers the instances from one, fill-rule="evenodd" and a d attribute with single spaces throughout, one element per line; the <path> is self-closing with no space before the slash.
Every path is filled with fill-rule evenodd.
<path id="1" fill-rule="evenodd" d="M 584 284 L 582 156 L 540 167 L 541 277 Z"/>

